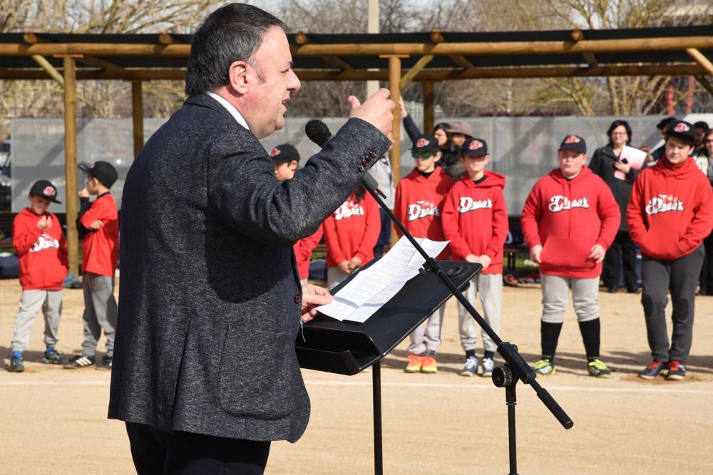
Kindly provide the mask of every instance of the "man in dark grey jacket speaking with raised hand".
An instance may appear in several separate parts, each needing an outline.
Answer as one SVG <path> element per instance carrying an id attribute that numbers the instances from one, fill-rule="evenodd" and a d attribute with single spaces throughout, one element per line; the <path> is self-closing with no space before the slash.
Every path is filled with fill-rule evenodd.
<path id="1" fill-rule="evenodd" d="M 389 147 L 388 90 L 294 176 L 277 182 L 259 138 L 299 89 L 284 25 L 247 4 L 193 36 L 188 99 L 126 177 L 109 417 L 126 422 L 139 473 L 262 473 L 294 442 L 309 399 L 294 352 L 331 297 L 300 288 L 292 245 Z"/>

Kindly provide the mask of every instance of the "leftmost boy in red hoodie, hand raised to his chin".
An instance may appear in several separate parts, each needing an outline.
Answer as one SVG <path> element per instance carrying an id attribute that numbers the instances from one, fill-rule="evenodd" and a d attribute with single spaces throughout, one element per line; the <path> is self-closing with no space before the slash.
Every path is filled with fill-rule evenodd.
<path id="1" fill-rule="evenodd" d="M 22 352 L 30 343 L 30 329 L 37 310 L 45 318 L 45 350 L 42 362 L 66 363 L 54 345 L 59 341 L 59 319 L 62 313 L 62 284 L 67 275 L 67 243 L 57 217 L 48 212 L 57 201 L 57 189 L 46 179 L 35 182 L 28 196 L 30 206 L 12 221 L 12 244 L 20 264 L 20 310 L 12 334 L 12 356 L 8 370 L 23 372 Z"/>

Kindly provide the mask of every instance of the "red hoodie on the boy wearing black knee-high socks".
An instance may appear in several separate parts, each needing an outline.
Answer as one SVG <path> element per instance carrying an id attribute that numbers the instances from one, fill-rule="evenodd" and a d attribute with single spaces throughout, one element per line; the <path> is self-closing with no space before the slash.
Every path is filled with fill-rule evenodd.
<path id="1" fill-rule="evenodd" d="M 592 246 L 609 249 L 619 230 L 619 205 L 607 184 L 587 167 L 574 179 L 560 169 L 538 179 L 520 218 L 528 247 L 542 245 L 540 272 L 595 278 L 602 263 L 589 259 Z"/>

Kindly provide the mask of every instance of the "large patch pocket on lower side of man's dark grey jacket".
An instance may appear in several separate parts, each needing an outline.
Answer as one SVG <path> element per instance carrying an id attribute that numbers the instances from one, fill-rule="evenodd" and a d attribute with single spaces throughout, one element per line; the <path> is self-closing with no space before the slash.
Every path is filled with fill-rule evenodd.
<path id="1" fill-rule="evenodd" d="M 220 353 L 218 400 L 226 412 L 246 419 L 283 419 L 294 412 L 299 365 L 289 335 L 265 338 L 228 325 Z"/>

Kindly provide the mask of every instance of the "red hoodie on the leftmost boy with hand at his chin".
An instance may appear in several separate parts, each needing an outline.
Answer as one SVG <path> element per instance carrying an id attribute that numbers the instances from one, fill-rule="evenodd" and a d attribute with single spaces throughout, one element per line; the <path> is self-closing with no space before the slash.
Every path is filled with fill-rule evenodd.
<path id="1" fill-rule="evenodd" d="M 46 212 L 52 225 L 40 231 L 42 216 L 25 208 L 12 221 L 12 245 L 20 264 L 20 285 L 24 291 L 61 291 L 67 276 L 67 242 L 57 216 Z"/>

